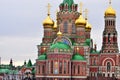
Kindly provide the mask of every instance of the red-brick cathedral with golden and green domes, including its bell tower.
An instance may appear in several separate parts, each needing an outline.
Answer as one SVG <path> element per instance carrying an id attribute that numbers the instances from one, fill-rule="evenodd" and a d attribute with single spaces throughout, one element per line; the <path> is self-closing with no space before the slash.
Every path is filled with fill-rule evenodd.
<path id="1" fill-rule="evenodd" d="M 120 55 L 117 43 L 116 12 L 111 2 L 104 13 L 102 48 L 97 51 L 91 39 L 91 24 L 78 12 L 74 0 L 63 0 L 56 21 L 48 14 L 43 21 L 44 36 L 38 45 L 37 80 L 108 80 L 120 78 Z"/>

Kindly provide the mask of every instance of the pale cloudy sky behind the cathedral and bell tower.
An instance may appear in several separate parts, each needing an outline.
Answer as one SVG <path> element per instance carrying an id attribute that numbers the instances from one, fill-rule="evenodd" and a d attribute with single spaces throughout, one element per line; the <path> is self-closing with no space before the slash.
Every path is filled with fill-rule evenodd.
<path id="1" fill-rule="evenodd" d="M 24 60 L 37 58 L 37 45 L 43 37 L 42 22 L 47 16 L 47 4 L 51 4 L 51 18 L 63 0 L 0 0 L 0 57 L 2 64 L 8 64 L 12 58 L 14 65 L 22 65 Z M 104 29 L 104 11 L 109 0 L 74 0 L 83 3 L 83 9 L 89 10 L 88 20 L 93 26 L 91 37 L 101 49 Z M 117 12 L 118 38 L 120 45 L 120 1 L 112 0 Z M 79 10 L 79 9 L 78 9 Z"/>

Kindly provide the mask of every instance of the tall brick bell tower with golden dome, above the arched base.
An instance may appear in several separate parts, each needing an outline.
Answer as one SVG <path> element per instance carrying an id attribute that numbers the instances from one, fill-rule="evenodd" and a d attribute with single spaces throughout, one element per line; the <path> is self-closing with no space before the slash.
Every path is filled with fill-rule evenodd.
<path id="1" fill-rule="evenodd" d="M 102 53 L 118 53 L 116 12 L 112 8 L 111 1 L 104 15 L 105 28 L 103 31 Z"/>

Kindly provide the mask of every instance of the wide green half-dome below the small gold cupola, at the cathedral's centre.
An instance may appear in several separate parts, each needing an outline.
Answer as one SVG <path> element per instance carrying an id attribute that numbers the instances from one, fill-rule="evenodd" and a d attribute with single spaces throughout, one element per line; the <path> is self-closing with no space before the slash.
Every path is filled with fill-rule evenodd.
<path id="1" fill-rule="evenodd" d="M 50 49 L 71 49 L 71 47 L 63 42 L 57 42 L 55 44 L 53 44 L 52 46 L 50 46 Z"/>

